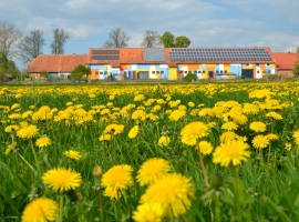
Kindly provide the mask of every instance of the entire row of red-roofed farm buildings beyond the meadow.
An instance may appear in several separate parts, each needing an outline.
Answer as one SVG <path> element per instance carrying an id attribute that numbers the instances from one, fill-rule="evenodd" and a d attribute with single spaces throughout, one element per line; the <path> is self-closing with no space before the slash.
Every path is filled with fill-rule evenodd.
<path id="1" fill-rule="evenodd" d="M 35 79 L 41 72 L 68 78 L 84 64 L 91 69 L 90 80 L 177 80 L 188 72 L 198 79 L 261 79 L 275 73 L 292 77 L 297 60 L 297 53 L 272 52 L 269 47 L 90 48 L 87 54 L 41 54 L 27 71 Z"/>

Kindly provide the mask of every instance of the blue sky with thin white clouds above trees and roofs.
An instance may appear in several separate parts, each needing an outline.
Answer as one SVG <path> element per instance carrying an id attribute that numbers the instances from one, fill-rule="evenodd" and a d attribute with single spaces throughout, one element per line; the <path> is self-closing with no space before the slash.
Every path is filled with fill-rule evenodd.
<path id="1" fill-rule="evenodd" d="M 43 31 L 45 54 L 54 28 L 70 32 L 66 54 L 102 47 L 116 28 L 130 47 L 141 46 L 145 30 L 186 36 L 192 47 L 299 47 L 299 0 L 7 0 L 0 11 L 23 36 Z"/>

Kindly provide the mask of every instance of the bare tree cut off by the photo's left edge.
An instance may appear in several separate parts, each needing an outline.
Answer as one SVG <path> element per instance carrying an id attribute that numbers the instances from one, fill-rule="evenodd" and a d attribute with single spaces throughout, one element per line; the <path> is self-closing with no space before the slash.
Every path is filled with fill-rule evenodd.
<path id="1" fill-rule="evenodd" d="M 0 22 L 0 51 L 10 59 L 17 57 L 17 43 L 21 40 L 22 33 L 16 28 L 13 23 L 6 21 Z"/>

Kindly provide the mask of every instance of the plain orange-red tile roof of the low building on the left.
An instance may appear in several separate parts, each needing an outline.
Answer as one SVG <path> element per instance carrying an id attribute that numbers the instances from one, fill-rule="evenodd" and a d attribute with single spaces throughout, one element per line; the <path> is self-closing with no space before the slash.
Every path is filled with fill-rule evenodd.
<path id="1" fill-rule="evenodd" d="M 71 72 L 76 65 L 86 63 L 86 54 L 40 54 L 28 64 L 27 72 Z"/>

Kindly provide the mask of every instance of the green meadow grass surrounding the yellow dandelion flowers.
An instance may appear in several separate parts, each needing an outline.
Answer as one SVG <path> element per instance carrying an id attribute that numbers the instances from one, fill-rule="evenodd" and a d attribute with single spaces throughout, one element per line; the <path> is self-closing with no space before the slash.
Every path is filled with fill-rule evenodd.
<path id="1" fill-rule="evenodd" d="M 258 114 L 249 115 L 249 122 L 236 131 L 239 135 L 246 135 L 248 144 L 255 137 L 249 130 L 252 121 L 267 122 L 267 132 L 279 135 L 277 141 L 271 142 L 271 150 L 266 148 L 261 152 L 250 148 L 251 155 L 247 162 L 241 163 L 238 170 L 238 193 L 240 200 L 240 216 L 243 221 L 296 221 L 299 215 L 298 192 L 298 145 L 292 138 L 293 131 L 299 128 L 299 102 L 298 83 L 213 83 L 213 84 L 156 84 L 152 81 L 148 84 L 126 85 L 117 84 L 84 84 L 84 85 L 37 85 L 31 87 L 6 85 L 0 88 L 1 105 L 11 107 L 14 103 L 21 105 L 20 113 L 29 110 L 34 104 L 33 112 L 38 112 L 42 105 L 50 109 L 56 108 L 53 117 L 47 121 L 28 119 L 29 123 L 39 128 L 39 134 L 32 139 L 32 143 L 40 135 L 47 134 L 52 144 L 40 149 L 34 145 L 40 162 L 42 174 L 50 169 L 64 167 L 71 168 L 81 173 L 83 183 L 72 193 L 65 194 L 63 209 L 63 221 L 100 221 L 99 194 L 95 191 L 93 168 L 100 165 L 104 172 L 116 164 L 130 164 L 134 169 L 133 176 L 137 174 L 141 164 L 150 158 L 163 158 L 172 165 L 172 172 L 184 174 L 192 179 L 196 191 L 196 199 L 193 200 L 192 208 L 185 213 L 187 221 L 216 221 L 217 209 L 220 209 L 220 221 L 237 221 L 236 218 L 236 190 L 234 188 L 234 175 L 231 169 L 221 168 L 213 163 L 213 155 L 204 157 L 205 168 L 210 188 L 205 188 L 204 178 L 199 164 L 198 153 L 194 147 L 182 143 L 179 132 L 189 122 L 203 121 L 205 123 L 216 122 L 206 140 L 216 148 L 219 144 L 219 137 L 224 132 L 221 124 L 224 120 L 216 117 L 193 117 L 188 102 L 196 105 L 204 103 L 205 107 L 214 108 L 219 101 L 237 101 L 239 104 L 258 101 L 265 103 L 265 99 L 249 98 L 249 92 L 255 89 L 269 89 L 274 92 L 272 99 L 277 99 L 279 104 L 292 102 L 292 107 L 283 107 L 275 110 L 282 115 L 282 120 L 269 121 L 265 114 L 267 110 L 260 109 Z M 22 97 L 16 98 L 18 90 L 22 90 Z M 89 98 L 90 93 L 96 97 Z M 102 122 L 101 112 L 93 114 L 93 121 L 78 123 L 71 120 L 68 124 L 64 121 L 55 122 L 54 117 L 59 111 L 66 109 L 66 102 L 73 100 L 74 105 L 83 104 L 85 111 L 94 110 L 94 105 L 105 105 L 113 102 L 114 108 L 124 108 L 132 103 L 136 107 L 130 111 L 132 113 L 137 107 L 144 107 L 146 113 L 151 113 L 151 107 L 145 107 L 142 101 L 134 101 L 134 95 L 143 93 L 145 101 L 150 98 L 164 99 L 171 94 L 171 100 L 181 100 L 181 104 L 186 105 L 186 115 L 179 121 L 171 121 L 166 110 L 171 108 L 162 104 L 158 112 L 158 121 L 146 120 L 140 123 L 141 131 L 135 139 L 128 139 L 128 131 L 136 124 L 128 118 L 118 115 L 116 122 L 124 124 L 123 133 L 113 137 L 109 142 L 100 142 L 99 138 L 105 127 L 112 122 Z M 115 94 L 114 100 L 109 97 Z M 11 124 L 19 124 L 24 120 L 12 121 L 9 119 L 16 111 L 6 110 L 0 105 L 0 218 L 1 221 L 20 221 L 24 206 L 37 196 L 48 196 L 59 202 L 59 194 L 47 188 L 40 176 L 37 176 L 37 165 L 31 152 L 31 141 L 22 140 L 4 129 Z M 202 109 L 196 107 L 197 109 Z M 111 109 L 111 108 L 109 108 Z M 177 109 L 177 108 L 174 108 Z M 96 110 L 96 109 L 95 109 Z M 117 112 L 111 109 L 112 113 Z M 117 112 L 118 113 L 118 112 Z M 109 118 L 112 120 L 112 117 Z M 171 138 L 167 148 L 157 145 L 158 138 L 166 133 Z M 6 155 L 8 144 L 17 142 L 13 151 Z M 285 143 L 292 143 L 292 149 L 287 151 Z M 69 160 L 63 152 L 76 150 L 82 154 L 79 161 Z M 215 178 L 215 174 L 219 174 Z M 215 182 L 216 181 L 216 182 Z M 218 184 L 218 185 L 215 185 Z M 145 192 L 145 188 L 134 185 L 125 191 L 120 200 L 103 199 L 103 210 L 105 221 L 133 221 L 132 213 L 136 210 L 140 198 Z M 219 206 L 217 206 L 217 203 Z M 123 219 L 123 220 L 122 220 Z M 298 219 L 298 218 L 297 218 Z M 165 218 L 164 221 L 182 221 L 182 218 Z"/>

